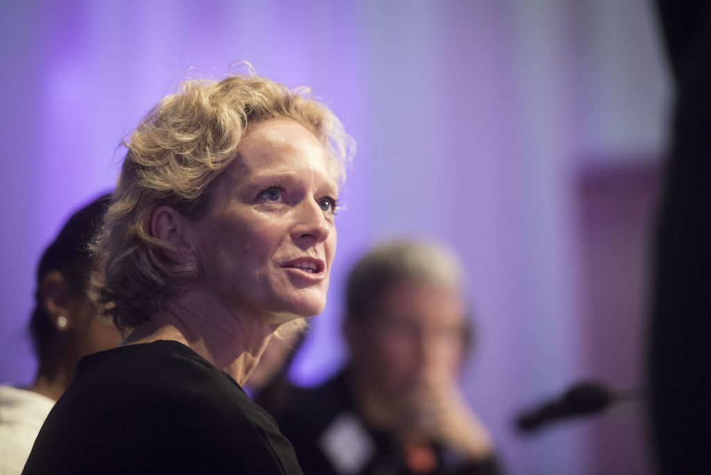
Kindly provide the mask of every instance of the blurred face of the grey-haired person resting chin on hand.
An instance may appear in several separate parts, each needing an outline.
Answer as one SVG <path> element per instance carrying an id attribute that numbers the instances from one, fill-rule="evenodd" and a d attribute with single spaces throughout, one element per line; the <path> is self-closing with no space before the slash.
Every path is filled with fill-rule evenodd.
<path id="1" fill-rule="evenodd" d="M 457 292 L 400 284 L 349 338 L 353 364 L 385 397 L 453 384 L 464 350 L 466 306 Z"/>

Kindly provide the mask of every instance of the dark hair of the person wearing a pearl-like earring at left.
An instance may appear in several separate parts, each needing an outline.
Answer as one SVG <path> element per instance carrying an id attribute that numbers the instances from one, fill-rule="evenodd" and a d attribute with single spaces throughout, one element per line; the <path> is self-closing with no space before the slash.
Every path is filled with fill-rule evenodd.
<path id="1" fill-rule="evenodd" d="M 41 370 L 52 365 L 48 352 L 52 338 L 58 331 L 43 307 L 42 277 L 47 272 L 58 271 L 64 276 L 73 295 L 79 296 L 85 292 L 92 270 L 88 245 L 110 201 L 111 195 L 106 193 L 74 213 L 40 259 L 36 275 L 35 308 L 28 329 Z"/>

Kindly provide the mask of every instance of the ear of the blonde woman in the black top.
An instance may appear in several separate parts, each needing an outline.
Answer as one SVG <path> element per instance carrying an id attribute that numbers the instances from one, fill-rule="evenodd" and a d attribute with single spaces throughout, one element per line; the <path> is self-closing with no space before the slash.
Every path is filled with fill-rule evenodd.
<path id="1" fill-rule="evenodd" d="M 151 235 L 166 244 L 166 254 L 178 265 L 195 262 L 197 247 L 193 228 L 185 216 L 170 206 L 159 206 L 151 213 Z"/>

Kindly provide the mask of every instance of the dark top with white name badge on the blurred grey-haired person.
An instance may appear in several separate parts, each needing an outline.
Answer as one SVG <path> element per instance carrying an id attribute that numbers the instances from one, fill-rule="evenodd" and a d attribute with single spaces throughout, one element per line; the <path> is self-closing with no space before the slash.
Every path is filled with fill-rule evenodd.
<path id="1" fill-rule="evenodd" d="M 428 441 L 424 441 L 424 447 L 405 449 L 397 434 L 370 427 L 358 412 L 345 372 L 318 388 L 291 387 L 289 391 L 286 406 L 267 410 L 272 410 L 282 433 L 294 445 L 306 474 L 501 474 L 493 458 L 463 459 L 447 447 Z M 432 470 L 408 468 L 409 464 L 417 466 L 418 459 L 422 466 L 423 458 L 430 462 L 434 458 Z"/>

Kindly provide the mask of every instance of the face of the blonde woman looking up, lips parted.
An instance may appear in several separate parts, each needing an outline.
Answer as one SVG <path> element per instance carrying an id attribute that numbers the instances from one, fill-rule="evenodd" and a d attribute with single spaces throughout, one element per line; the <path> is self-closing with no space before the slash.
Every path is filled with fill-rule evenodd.
<path id="1" fill-rule="evenodd" d="M 326 304 L 338 172 L 292 119 L 250 124 L 196 221 L 201 277 L 231 311 L 283 323 Z"/>

